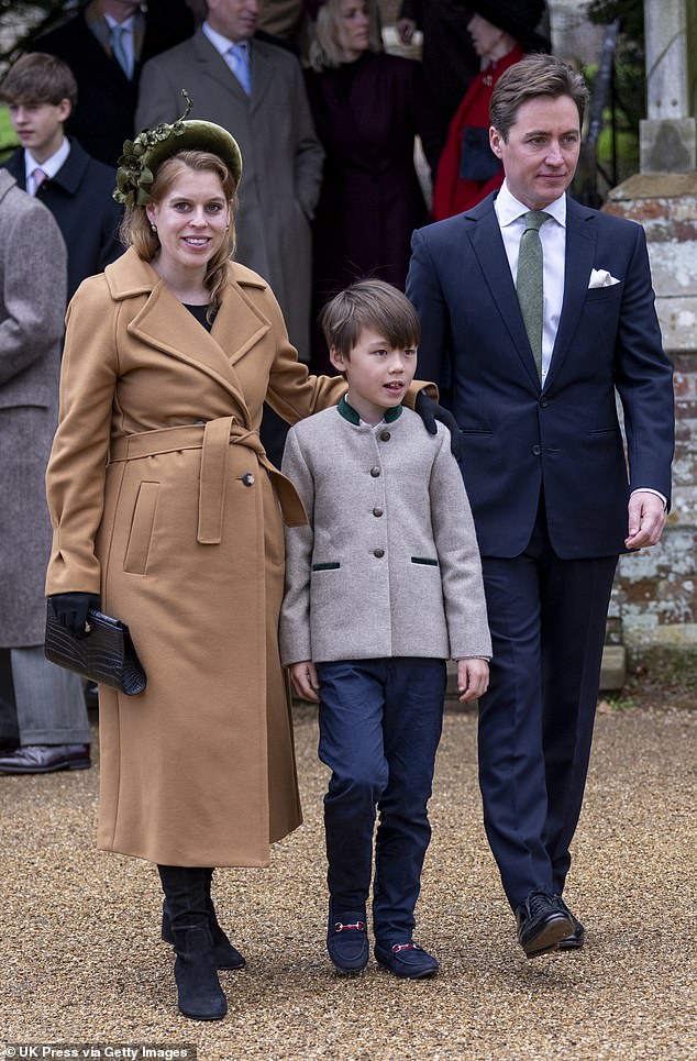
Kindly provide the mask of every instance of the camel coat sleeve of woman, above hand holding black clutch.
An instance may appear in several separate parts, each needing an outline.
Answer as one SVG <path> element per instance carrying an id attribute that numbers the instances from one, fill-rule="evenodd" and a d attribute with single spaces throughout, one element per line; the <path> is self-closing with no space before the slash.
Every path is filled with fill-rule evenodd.
<path id="1" fill-rule="evenodd" d="M 60 369 L 59 425 L 46 472 L 53 546 L 46 593 L 101 592 L 95 551 L 104 504 L 118 378 L 114 305 L 103 275 L 70 301 Z"/>

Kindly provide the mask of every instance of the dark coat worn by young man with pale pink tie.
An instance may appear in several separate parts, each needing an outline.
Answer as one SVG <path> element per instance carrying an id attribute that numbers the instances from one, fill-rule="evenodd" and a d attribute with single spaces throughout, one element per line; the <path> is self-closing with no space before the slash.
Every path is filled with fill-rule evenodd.
<path id="1" fill-rule="evenodd" d="M 26 190 L 24 150 L 20 147 L 2 165 Z M 68 300 L 86 276 L 102 273 L 123 251 L 117 234 L 121 207 L 111 198 L 114 185 L 114 170 L 90 158 L 71 140 L 63 166 L 36 192 L 58 222 L 68 248 Z"/>

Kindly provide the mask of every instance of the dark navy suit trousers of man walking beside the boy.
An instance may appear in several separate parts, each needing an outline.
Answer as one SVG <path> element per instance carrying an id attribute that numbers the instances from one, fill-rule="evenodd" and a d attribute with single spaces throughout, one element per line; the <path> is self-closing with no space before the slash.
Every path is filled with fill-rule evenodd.
<path id="1" fill-rule="evenodd" d="M 617 556 L 561 560 L 541 500 L 520 556 L 483 556 L 494 656 L 479 703 L 485 828 L 513 909 L 562 893 L 583 800 Z"/>

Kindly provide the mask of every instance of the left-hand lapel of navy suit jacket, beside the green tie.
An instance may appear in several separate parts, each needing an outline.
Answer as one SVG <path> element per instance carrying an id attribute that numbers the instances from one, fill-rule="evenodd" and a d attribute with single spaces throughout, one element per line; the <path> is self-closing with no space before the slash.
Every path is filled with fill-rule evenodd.
<path id="1" fill-rule="evenodd" d="M 476 224 L 467 225 L 467 232 L 491 297 L 510 333 L 525 373 L 534 386 L 540 389 L 538 369 L 520 312 L 520 303 L 501 239 L 501 230 L 494 210 L 494 200 L 495 196 L 491 196 L 465 213 L 466 219 L 476 221 Z"/>

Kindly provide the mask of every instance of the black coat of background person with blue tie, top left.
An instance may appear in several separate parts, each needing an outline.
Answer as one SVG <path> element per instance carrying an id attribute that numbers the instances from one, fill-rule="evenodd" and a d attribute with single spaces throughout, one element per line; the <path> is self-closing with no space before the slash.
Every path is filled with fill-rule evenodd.
<path id="1" fill-rule="evenodd" d="M 56 55 L 70 67 L 78 101 L 66 132 L 76 136 L 93 158 L 113 167 L 123 141 L 136 132 L 133 125 L 143 64 L 191 36 L 195 29 L 193 15 L 181 0 L 167 0 L 166 7 L 151 0 L 145 20 L 143 49 L 130 81 L 89 29 L 84 11 L 32 45 L 32 51 Z"/>

